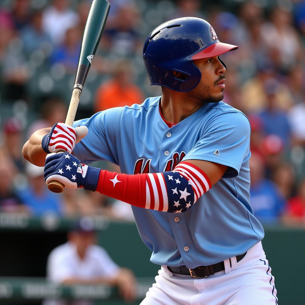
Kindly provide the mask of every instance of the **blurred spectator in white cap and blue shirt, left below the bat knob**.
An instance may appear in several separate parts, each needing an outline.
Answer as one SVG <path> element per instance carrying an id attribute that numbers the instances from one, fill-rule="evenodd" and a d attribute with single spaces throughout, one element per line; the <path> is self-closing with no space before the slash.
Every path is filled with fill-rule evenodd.
<path id="1" fill-rule="evenodd" d="M 33 216 L 43 216 L 48 213 L 60 216 L 63 213 L 61 195 L 48 190 L 43 177 L 43 170 L 43 167 L 28 162 L 26 174 L 29 184 L 24 188 L 19 188 L 17 196 Z"/>

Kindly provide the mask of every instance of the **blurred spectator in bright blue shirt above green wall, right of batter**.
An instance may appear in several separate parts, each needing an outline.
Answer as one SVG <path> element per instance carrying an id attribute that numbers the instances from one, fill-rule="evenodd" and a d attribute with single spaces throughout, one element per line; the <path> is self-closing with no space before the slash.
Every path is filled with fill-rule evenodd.
<path id="1" fill-rule="evenodd" d="M 282 216 L 285 200 L 271 180 L 264 178 L 264 163 L 259 155 L 250 158 L 250 203 L 255 217 L 262 223 L 277 221 Z"/>

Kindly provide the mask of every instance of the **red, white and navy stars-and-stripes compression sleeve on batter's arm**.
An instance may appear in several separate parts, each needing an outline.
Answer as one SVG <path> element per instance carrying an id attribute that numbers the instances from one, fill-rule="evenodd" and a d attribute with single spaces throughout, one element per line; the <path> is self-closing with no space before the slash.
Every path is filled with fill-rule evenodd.
<path id="1" fill-rule="evenodd" d="M 184 213 L 212 187 L 210 179 L 188 162 L 173 171 L 127 175 L 101 170 L 96 191 L 134 206 Z"/>

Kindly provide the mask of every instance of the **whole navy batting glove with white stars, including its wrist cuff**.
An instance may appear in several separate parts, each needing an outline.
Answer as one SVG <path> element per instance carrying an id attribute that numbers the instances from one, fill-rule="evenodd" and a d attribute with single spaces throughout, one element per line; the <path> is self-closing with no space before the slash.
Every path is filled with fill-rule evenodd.
<path id="1" fill-rule="evenodd" d="M 101 169 L 88 166 L 69 153 L 48 154 L 45 160 L 45 183 L 56 180 L 67 188 L 95 191 Z"/>

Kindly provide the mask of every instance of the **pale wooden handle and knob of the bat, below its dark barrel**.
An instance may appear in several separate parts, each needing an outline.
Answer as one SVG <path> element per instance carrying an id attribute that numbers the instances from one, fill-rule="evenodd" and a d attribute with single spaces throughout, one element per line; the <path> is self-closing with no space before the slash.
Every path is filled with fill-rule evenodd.
<path id="1" fill-rule="evenodd" d="M 72 91 L 70 106 L 68 109 L 66 122 L 65 124 L 73 126 L 73 122 L 75 119 L 76 110 L 78 107 L 79 99 L 81 98 L 81 90 L 78 88 L 74 88 Z M 64 152 L 64 150 L 58 151 L 56 153 Z M 61 193 L 63 192 L 65 185 L 61 182 L 53 180 L 48 183 L 48 189 L 53 193 Z"/>

